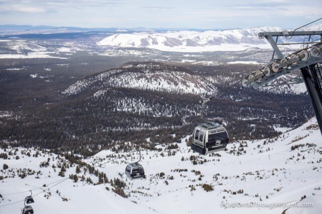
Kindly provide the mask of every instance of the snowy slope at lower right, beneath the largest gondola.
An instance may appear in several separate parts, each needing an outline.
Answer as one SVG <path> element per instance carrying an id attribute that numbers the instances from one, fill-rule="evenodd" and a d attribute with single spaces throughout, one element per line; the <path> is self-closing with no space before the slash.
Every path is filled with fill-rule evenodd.
<path id="1" fill-rule="evenodd" d="M 287 132 L 275 140 L 264 145 L 265 140 L 247 142 L 248 147 L 238 148 L 239 143 L 229 145 L 227 152 L 220 152 L 221 157 L 205 157 L 197 155 L 199 160 L 207 159 L 204 164 L 193 165 L 189 160 L 191 155 L 184 143 L 179 144 L 179 149 L 175 156 L 160 157 L 159 152 L 143 152 L 144 159 L 141 161 L 145 171 L 149 174 L 148 179 L 154 176 L 155 181 L 146 184 L 145 180 L 133 182 L 129 190 L 140 189 L 144 193 L 152 196 L 143 197 L 137 195 L 137 201 L 142 204 L 152 206 L 160 213 L 167 213 L 169 210 L 176 213 L 258 213 L 258 208 L 222 208 L 221 202 L 289 202 L 298 201 L 304 194 L 309 196 L 314 193 L 322 195 L 322 192 L 315 190 L 322 185 L 322 176 L 319 172 L 322 168 L 321 136 L 314 120 L 310 120 L 302 127 Z M 284 137 L 283 137 L 284 136 Z M 304 137 L 303 139 L 301 139 Z M 266 140 L 267 142 L 268 140 Z M 273 141 L 273 140 L 271 140 Z M 292 145 L 315 143 L 317 147 L 303 146 L 299 149 L 291 150 Z M 257 146 L 260 145 L 260 148 Z M 233 149 L 235 147 L 235 149 Z M 268 150 L 270 148 L 270 150 Z M 240 155 L 229 154 L 234 150 L 246 150 L 246 154 L 240 151 Z M 166 152 L 165 152 L 166 153 Z M 158 154 L 158 156 L 156 156 Z M 300 156 L 297 156 L 300 154 Z M 314 155 L 312 155 L 314 154 Z M 104 157 L 106 153 L 102 151 L 97 156 Z M 293 159 L 289 159 L 292 156 Z M 182 156 L 185 161 L 181 161 Z M 302 159 L 305 156 L 305 159 Z M 151 157 L 151 159 L 150 159 Z M 131 161 L 134 161 L 133 158 Z M 296 160 L 299 158 L 299 160 Z M 220 161 L 218 161 L 218 159 Z M 123 168 L 125 163 L 121 163 Z M 110 173 L 117 176 L 118 171 L 122 171 L 119 166 L 107 165 Z M 317 167 L 317 168 L 315 168 Z M 174 169 L 187 169 L 185 172 L 173 172 Z M 204 177 L 199 181 L 200 175 L 195 175 L 191 170 L 198 170 Z M 286 178 L 284 173 L 286 172 Z M 165 178 L 159 178 L 156 173 L 165 172 L 167 176 L 174 176 L 174 179 L 167 179 L 169 185 L 165 184 Z M 219 173 L 218 180 L 215 174 Z M 214 186 L 213 192 L 205 192 L 198 184 L 208 183 Z M 189 185 L 195 185 L 196 190 L 190 191 Z M 309 185 L 308 185 L 309 184 Z M 142 190 L 140 187 L 150 188 Z M 226 192 L 225 189 L 228 191 Z M 233 191 L 243 189 L 243 194 L 232 194 Z M 274 190 L 277 189 L 277 190 Z M 231 191 L 230 191 L 231 190 Z M 256 197 L 256 194 L 259 196 Z M 266 195 L 269 197 L 266 199 Z M 225 198 L 223 198 L 223 196 Z M 134 195 L 131 197 L 135 198 Z M 143 197 L 143 198 L 142 198 Z M 321 202 L 321 201 L 319 201 Z M 167 204 L 167 205 L 165 205 Z M 198 204 L 198 205 L 196 205 Z M 213 209 L 209 209 L 209 204 Z M 286 206 L 287 207 L 287 206 Z M 318 205 L 316 204 L 317 210 Z M 283 207 L 275 207 L 274 213 L 281 213 Z M 316 211 L 316 210 L 315 210 Z M 272 213 L 270 208 L 261 208 L 261 213 Z M 292 212 L 290 212 L 292 213 Z M 314 212 L 310 212 L 314 213 Z"/>

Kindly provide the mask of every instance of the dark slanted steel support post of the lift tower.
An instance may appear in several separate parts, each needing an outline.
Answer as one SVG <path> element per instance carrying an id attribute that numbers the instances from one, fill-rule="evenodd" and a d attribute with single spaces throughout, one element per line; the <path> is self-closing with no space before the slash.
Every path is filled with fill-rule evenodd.
<path id="1" fill-rule="evenodd" d="M 318 77 L 316 75 L 315 65 L 301 68 L 301 73 L 306 85 L 308 95 L 312 102 L 317 124 L 322 134 L 322 91 L 318 82 Z"/>

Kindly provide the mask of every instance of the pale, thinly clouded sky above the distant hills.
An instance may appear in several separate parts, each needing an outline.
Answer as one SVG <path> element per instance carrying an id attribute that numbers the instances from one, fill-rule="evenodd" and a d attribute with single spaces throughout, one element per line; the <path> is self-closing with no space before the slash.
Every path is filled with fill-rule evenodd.
<path id="1" fill-rule="evenodd" d="M 0 25 L 117 28 L 296 28 L 322 0 L 0 0 Z"/>

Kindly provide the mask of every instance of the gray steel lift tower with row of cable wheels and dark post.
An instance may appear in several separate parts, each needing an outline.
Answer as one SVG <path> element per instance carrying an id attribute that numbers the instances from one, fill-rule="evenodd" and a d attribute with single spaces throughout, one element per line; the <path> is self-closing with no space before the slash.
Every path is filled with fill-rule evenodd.
<path id="1" fill-rule="evenodd" d="M 258 36 L 260 39 L 267 39 L 271 44 L 273 48 L 272 59 L 266 67 L 244 78 L 241 81 L 242 85 L 244 87 L 252 85 L 254 88 L 267 86 L 269 82 L 278 77 L 294 73 L 299 69 L 302 78 L 294 78 L 289 81 L 294 83 L 305 82 L 322 134 L 322 76 L 319 69 L 319 64 L 322 62 L 322 31 L 261 32 Z M 286 39 L 304 37 L 304 41 L 303 43 L 278 43 L 279 37 Z M 299 51 L 284 56 L 279 49 L 279 45 L 301 45 L 301 47 Z"/>

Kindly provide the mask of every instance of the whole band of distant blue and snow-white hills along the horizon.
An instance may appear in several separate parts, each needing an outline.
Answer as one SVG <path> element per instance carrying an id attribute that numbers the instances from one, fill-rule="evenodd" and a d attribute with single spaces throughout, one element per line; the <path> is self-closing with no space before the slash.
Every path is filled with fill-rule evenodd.
<path id="1" fill-rule="evenodd" d="M 94 38 L 99 48 L 149 48 L 167 52 L 213 52 L 243 51 L 249 48 L 270 49 L 265 39 L 259 39 L 259 32 L 280 32 L 278 27 L 256 27 L 232 30 L 189 30 L 189 29 L 119 29 L 119 28 L 78 28 L 30 25 L 2 25 L 0 39 L 76 39 Z M 287 30 L 287 29 L 286 29 Z M 322 30 L 322 24 L 311 25 L 298 31 Z M 290 30 L 289 30 L 290 31 Z M 279 43 L 303 42 L 305 37 L 287 40 L 279 38 Z M 314 38 L 311 38 L 314 40 Z M 299 46 L 284 45 L 284 48 Z"/>

